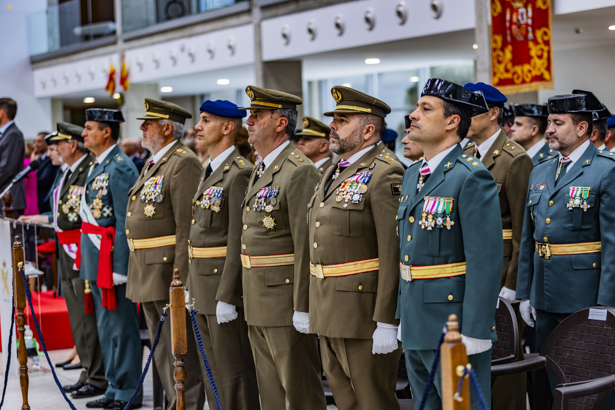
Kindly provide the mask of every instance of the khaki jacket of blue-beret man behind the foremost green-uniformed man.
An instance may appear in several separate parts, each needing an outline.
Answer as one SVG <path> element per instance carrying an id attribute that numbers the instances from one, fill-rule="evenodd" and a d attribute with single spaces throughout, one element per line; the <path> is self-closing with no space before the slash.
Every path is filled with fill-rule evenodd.
<path id="1" fill-rule="evenodd" d="M 464 150 L 474 154 L 474 143 Z M 517 288 L 519 246 L 525 213 L 525 190 L 530 181 L 534 163 L 519 144 L 510 140 L 503 130 L 493 141 L 490 152 L 481 158 L 498 185 L 502 229 L 512 229 L 512 239 L 504 239 L 504 264 L 501 285 L 510 290 Z M 510 232 L 510 231 L 508 231 Z"/>

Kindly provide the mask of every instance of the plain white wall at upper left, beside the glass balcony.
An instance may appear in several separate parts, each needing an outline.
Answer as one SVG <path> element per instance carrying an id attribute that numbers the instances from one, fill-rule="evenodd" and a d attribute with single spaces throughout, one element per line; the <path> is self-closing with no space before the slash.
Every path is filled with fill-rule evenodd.
<path id="1" fill-rule="evenodd" d="M 51 100 L 34 98 L 28 39 L 28 15 L 46 7 L 46 0 L 0 0 L 0 27 L 5 37 L 0 49 L 0 97 L 17 101 L 15 122 L 26 139 L 52 129 Z"/>

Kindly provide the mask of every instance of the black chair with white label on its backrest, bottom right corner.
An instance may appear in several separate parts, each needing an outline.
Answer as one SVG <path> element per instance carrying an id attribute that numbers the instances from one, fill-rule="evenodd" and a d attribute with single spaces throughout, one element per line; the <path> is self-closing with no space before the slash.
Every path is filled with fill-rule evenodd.
<path id="1" fill-rule="evenodd" d="M 553 410 L 600 409 L 615 388 L 615 310 L 596 307 L 605 320 L 579 310 L 550 334 L 538 357 L 496 365 L 491 376 L 547 368 L 557 379 Z"/>

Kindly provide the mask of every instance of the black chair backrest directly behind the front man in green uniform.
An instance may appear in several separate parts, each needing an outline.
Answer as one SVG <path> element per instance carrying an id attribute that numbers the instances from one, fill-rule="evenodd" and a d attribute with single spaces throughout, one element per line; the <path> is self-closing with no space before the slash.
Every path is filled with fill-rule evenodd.
<path id="1" fill-rule="evenodd" d="M 491 365 L 503 365 L 517 361 L 519 352 L 519 327 L 517 317 L 506 299 L 498 299 L 496 308 L 496 332 L 498 340 L 491 349 Z"/>

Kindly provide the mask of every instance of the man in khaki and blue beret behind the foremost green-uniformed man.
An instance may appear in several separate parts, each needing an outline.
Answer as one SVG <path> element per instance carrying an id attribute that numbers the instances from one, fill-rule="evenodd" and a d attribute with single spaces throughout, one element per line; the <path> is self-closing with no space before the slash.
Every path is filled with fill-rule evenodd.
<path id="1" fill-rule="evenodd" d="M 504 261 L 501 298 L 512 304 L 517 321 L 522 323 L 519 314 L 519 301 L 515 299 L 517 288 L 517 268 L 523 213 L 525 213 L 525 191 L 534 163 L 519 144 L 510 140 L 502 130 L 502 111 L 506 96 L 498 89 L 483 82 L 464 85 L 470 91 L 480 91 L 485 97 L 489 111 L 472 117 L 467 133 L 474 141 L 464 150 L 466 154 L 480 159 L 498 185 L 499 207 L 502 215 L 502 238 L 504 239 Z M 521 347 L 521 346 L 519 346 Z M 523 353 L 522 353 L 523 357 Z M 526 377 L 523 374 L 498 377 L 493 384 L 493 408 L 526 408 Z"/>

